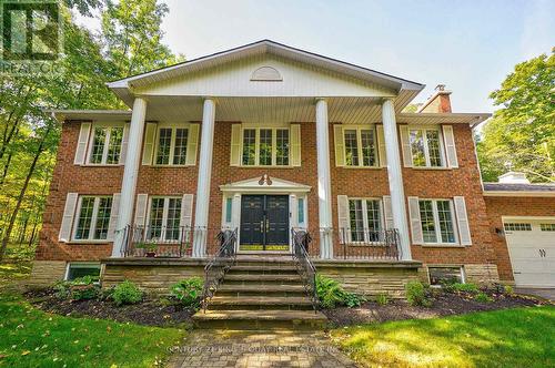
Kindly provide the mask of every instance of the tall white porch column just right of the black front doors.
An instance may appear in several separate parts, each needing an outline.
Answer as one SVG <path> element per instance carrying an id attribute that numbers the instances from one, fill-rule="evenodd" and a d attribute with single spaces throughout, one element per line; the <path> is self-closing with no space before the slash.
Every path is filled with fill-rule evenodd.
<path id="1" fill-rule="evenodd" d="M 332 184 L 330 175 L 330 126 L 327 102 L 316 101 L 317 198 L 320 217 L 320 257 L 333 258 Z"/>

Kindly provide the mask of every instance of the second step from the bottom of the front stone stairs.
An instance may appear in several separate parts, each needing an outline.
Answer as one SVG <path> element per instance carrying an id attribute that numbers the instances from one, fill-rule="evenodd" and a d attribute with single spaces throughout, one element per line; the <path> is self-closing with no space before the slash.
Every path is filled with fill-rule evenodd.
<path id="1" fill-rule="evenodd" d="M 209 304 L 213 310 L 311 310 L 312 301 L 307 297 L 280 296 L 214 296 Z"/>

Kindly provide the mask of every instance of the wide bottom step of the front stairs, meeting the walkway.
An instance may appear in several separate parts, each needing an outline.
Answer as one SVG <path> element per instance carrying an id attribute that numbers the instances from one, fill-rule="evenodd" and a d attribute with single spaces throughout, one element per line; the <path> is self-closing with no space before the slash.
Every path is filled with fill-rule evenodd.
<path id="1" fill-rule="evenodd" d="M 198 311 L 198 328 L 228 329 L 322 329 L 327 318 L 314 310 L 212 310 Z"/>

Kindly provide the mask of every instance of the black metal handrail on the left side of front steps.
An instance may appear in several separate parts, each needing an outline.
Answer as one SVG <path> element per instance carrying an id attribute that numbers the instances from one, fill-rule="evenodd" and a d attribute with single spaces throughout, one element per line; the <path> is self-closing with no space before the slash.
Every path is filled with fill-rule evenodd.
<path id="1" fill-rule="evenodd" d="M 235 264 L 238 229 L 223 229 L 218 234 L 222 246 L 216 255 L 204 267 L 204 289 L 202 293 L 202 308 L 206 313 L 210 300 L 218 290 L 228 270 Z"/>

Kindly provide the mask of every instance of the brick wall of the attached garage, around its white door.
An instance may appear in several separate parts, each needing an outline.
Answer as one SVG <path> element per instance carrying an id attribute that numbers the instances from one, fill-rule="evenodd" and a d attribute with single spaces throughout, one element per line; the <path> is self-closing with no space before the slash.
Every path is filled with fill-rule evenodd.
<path id="1" fill-rule="evenodd" d="M 496 228 L 503 228 L 502 216 L 555 216 L 555 197 L 485 197 L 485 202 L 500 278 L 512 282 L 507 244 L 495 233 Z"/>

